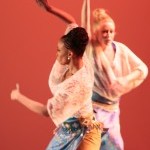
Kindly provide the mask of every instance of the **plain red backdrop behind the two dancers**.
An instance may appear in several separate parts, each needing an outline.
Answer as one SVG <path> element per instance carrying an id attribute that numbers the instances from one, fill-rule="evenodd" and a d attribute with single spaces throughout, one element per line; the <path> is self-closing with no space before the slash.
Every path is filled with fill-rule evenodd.
<path id="1" fill-rule="evenodd" d="M 80 24 L 82 0 L 51 3 L 72 14 Z M 109 10 L 117 26 L 116 40 L 130 47 L 150 67 L 149 0 L 91 0 L 91 3 L 92 9 Z M 54 124 L 51 119 L 12 102 L 10 91 L 18 82 L 25 95 L 46 103 L 51 96 L 48 76 L 65 23 L 40 9 L 35 0 L 1 0 L 0 19 L 0 149 L 43 150 L 52 137 Z M 122 97 L 125 150 L 150 147 L 149 97 L 149 77 Z"/>

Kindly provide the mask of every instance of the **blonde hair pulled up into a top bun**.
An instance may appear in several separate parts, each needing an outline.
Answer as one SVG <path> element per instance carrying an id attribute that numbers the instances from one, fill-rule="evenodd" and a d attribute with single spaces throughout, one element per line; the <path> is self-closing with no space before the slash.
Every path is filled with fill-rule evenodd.
<path id="1" fill-rule="evenodd" d="M 95 9 L 93 11 L 93 32 L 97 31 L 99 29 L 100 24 L 104 21 L 110 21 L 114 23 L 113 19 L 105 9 L 103 8 Z"/>

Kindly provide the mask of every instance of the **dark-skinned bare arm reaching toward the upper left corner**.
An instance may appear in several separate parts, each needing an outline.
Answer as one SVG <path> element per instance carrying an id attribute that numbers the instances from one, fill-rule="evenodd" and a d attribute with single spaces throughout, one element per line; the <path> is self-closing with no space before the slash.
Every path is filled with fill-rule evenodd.
<path id="1" fill-rule="evenodd" d="M 52 5 L 49 5 L 47 0 L 36 0 L 36 2 L 40 6 L 44 7 L 44 9 L 47 12 L 57 16 L 58 18 L 62 19 L 64 22 L 69 23 L 69 24 L 76 22 L 75 19 L 70 14 L 68 14 L 67 12 L 65 12 L 61 9 L 58 9 Z"/>

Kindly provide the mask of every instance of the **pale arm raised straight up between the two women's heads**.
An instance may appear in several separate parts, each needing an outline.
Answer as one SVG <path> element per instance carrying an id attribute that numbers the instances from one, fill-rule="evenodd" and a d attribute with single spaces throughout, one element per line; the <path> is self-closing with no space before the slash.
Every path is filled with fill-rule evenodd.
<path id="1" fill-rule="evenodd" d="M 81 26 L 88 32 L 91 38 L 91 24 L 90 24 L 90 0 L 84 0 L 81 11 Z"/>

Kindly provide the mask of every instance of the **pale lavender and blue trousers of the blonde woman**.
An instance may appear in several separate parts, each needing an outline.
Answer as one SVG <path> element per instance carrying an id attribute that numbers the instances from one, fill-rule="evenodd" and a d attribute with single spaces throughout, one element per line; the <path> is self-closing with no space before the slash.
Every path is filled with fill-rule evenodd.
<path id="1" fill-rule="evenodd" d="M 100 150 L 123 150 L 123 140 L 120 134 L 119 114 L 120 111 L 106 111 L 99 107 L 94 107 L 97 121 L 103 122 L 108 131 L 102 135 Z"/>

